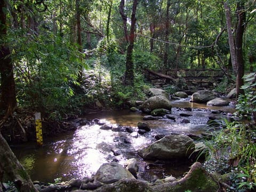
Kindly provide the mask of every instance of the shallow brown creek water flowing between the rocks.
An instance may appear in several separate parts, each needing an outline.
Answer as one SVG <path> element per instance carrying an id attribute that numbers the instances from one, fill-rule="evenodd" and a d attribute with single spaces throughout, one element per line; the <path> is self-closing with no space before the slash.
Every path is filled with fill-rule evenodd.
<path id="1" fill-rule="evenodd" d="M 124 165 L 129 158 L 137 158 L 139 162 L 138 178 L 148 181 L 162 179 L 168 175 L 181 177 L 189 170 L 189 162 L 145 162 L 137 155 L 137 150 L 156 141 L 157 134 L 175 132 L 200 134 L 208 129 L 206 122 L 211 110 L 223 110 L 226 113 L 234 111 L 232 107 L 207 107 L 203 104 L 191 103 L 188 99 L 172 101 L 172 114 L 179 115 L 183 108 L 191 107 L 190 123 L 181 124 L 171 119 L 162 118 L 147 121 L 151 131 L 130 137 L 127 132 L 113 132 L 100 130 L 100 125 L 85 125 L 78 127 L 73 133 L 62 134 L 59 137 L 44 140 L 43 147 L 36 147 L 36 143 L 12 146 L 14 154 L 28 170 L 32 180 L 53 182 L 55 178 L 69 180 L 71 178 L 91 177 L 103 163 L 118 161 Z M 129 110 L 102 111 L 86 115 L 86 119 L 98 118 L 101 122 L 113 126 L 134 126 L 145 114 L 133 113 Z M 114 156 L 113 151 L 121 155 Z"/>

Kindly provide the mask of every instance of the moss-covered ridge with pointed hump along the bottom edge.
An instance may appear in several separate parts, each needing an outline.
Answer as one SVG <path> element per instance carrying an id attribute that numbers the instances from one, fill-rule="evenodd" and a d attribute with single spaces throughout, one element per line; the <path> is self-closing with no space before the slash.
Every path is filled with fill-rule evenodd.
<path id="1" fill-rule="evenodd" d="M 194 163 L 185 177 L 174 181 L 149 183 L 143 180 L 122 179 L 115 183 L 103 185 L 94 192 L 184 192 L 184 191 L 218 191 L 217 179 L 204 169 L 201 163 Z M 78 192 L 79 190 L 77 190 Z M 79 191 L 80 192 L 80 191 Z"/>

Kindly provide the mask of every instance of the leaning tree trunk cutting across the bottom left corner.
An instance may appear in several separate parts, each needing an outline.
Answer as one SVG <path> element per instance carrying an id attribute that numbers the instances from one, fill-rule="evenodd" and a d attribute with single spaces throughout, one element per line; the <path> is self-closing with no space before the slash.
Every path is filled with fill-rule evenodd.
<path id="1" fill-rule="evenodd" d="M 38 191 L 31 181 L 28 173 L 13 154 L 8 143 L 0 133 L 0 172 L 7 175 L 8 179 L 14 182 L 20 192 Z"/>

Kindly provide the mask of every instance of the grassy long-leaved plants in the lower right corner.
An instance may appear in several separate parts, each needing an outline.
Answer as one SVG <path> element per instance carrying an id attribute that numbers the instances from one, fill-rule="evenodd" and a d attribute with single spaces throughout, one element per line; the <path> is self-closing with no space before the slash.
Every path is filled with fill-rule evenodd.
<path id="1" fill-rule="evenodd" d="M 241 123 L 225 120 L 225 129 L 215 131 L 212 140 L 205 141 L 209 151 L 206 169 L 210 172 L 231 172 L 232 187 L 245 191 L 255 183 L 255 130 Z"/>

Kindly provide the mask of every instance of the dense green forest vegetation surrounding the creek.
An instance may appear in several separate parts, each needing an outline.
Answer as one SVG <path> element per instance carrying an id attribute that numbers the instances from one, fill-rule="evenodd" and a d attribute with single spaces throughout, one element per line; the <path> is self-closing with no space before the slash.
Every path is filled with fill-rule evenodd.
<path id="1" fill-rule="evenodd" d="M 254 0 L 0 0 L 1 132 L 12 121 L 22 127 L 35 111 L 57 122 L 144 100 L 145 69 L 221 69 L 215 89 L 236 87 L 237 115 L 248 121 L 227 123 L 207 146 L 223 172 L 232 161 L 228 190 L 253 190 L 255 14 Z M 231 156 L 217 155 L 230 146 Z M 19 185 L 31 188 L 27 180 Z"/>

